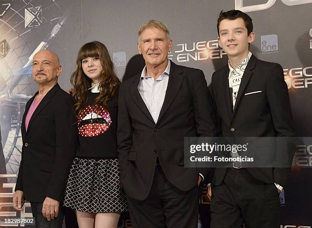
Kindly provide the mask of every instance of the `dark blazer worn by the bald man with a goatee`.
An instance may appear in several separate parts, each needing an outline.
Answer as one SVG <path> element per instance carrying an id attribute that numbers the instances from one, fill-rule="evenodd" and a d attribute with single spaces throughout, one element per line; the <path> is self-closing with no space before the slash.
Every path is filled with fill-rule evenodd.
<path id="1" fill-rule="evenodd" d="M 22 119 L 15 190 L 23 191 L 31 202 L 43 202 L 46 196 L 62 201 L 77 141 L 73 99 L 56 84 L 36 108 L 26 132 L 25 117 L 37 94 L 27 102 Z"/>

